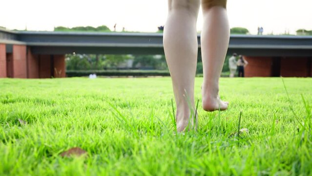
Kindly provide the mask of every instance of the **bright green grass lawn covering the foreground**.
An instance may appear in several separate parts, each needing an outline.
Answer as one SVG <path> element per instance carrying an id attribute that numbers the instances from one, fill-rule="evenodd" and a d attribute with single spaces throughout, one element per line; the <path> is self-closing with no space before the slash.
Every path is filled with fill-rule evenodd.
<path id="1" fill-rule="evenodd" d="M 221 78 L 229 110 L 183 135 L 170 78 L 0 79 L 0 175 L 312 175 L 312 79 L 284 81 Z"/>

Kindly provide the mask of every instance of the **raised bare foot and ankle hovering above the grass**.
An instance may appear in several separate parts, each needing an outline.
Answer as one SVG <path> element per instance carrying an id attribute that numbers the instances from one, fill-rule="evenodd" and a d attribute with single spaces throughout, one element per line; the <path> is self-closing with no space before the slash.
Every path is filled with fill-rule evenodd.
<path id="1" fill-rule="evenodd" d="M 205 86 L 202 87 L 203 109 L 206 111 L 227 110 L 229 102 L 220 99 L 218 86 L 215 88 L 212 88 L 211 84 L 209 86 L 210 89 L 205 89 Z"/>

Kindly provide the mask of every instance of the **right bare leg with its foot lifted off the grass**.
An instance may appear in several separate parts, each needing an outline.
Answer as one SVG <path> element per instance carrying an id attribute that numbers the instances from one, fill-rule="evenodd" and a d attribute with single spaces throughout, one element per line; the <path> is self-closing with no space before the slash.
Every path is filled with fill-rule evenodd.
<path id="1" fill-rule="evenodd" d="M 219 77 L 229 46 L 227 10 L 222 6 L 205 8 L 203 5 L 203 16 L 204 26 L 201 35 L 204 70 L 203 109 L 226 110 L 229 103 L 221 101 L 218 93 Z"/>

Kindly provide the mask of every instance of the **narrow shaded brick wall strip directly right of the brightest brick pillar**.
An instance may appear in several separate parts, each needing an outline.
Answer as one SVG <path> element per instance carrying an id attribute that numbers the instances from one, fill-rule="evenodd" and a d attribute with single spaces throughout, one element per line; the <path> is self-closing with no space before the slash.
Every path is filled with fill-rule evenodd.
<path id="1" fill-rule="evenodd" d="M 27 49 L 27 78 L 39 78 L 39 55 Z"/>

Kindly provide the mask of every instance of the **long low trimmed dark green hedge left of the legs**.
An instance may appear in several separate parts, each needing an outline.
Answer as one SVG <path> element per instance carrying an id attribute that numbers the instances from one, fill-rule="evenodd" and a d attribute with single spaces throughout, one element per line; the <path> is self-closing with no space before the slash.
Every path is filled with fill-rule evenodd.
<path id="1" fill-rule="evenodd" d="M 168 70 L 67 70 L 67 77 L 89 76 L 170 76 Z"/>

